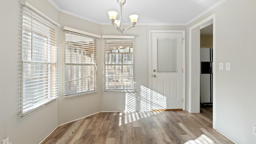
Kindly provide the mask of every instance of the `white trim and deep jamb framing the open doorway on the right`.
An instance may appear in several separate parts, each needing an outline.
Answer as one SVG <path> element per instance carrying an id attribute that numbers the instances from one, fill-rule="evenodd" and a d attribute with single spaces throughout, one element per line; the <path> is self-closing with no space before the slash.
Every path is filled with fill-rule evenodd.
<path id="1" fill-rule="evenodd" d="M 200 113 L 200 30 L 212 25 L 212 124 L 215 129 L 215 14 L 198 22 L 189 28 L 189 92 L 188 92 L 188 111 L 190 113 Z"/>

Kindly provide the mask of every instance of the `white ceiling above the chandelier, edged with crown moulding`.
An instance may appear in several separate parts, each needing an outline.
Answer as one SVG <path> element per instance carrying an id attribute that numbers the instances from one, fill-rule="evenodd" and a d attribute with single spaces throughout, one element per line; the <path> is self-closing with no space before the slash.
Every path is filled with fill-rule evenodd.
<path id="1" fill-rule="evenodd" d="M 110 24 L 107 12 L 120 12 L 116 0 L 48 0 L 61 12 L 98 24 Z M 137 24 L 186 25 L 225 0 L 126 0 L 123 20 L 138 14 Z"/>

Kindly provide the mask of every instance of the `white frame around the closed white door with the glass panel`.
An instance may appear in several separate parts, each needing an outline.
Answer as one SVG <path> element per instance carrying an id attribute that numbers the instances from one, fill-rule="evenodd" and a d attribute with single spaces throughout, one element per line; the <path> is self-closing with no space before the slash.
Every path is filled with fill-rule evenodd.
<path id="1" fill-rule="evenodd" d="M 149 80 L 150 80 L 150 98 L 151 98 L 151 104 L 150 104 L 150 109 L 152 110 L 152 33 L 181 33 L 182 34 L 182 110 L 185 110 L 185 75 L 186 75 L 186 70 L 185 70 L 185 30 L 150 30 L 150 35 L 149 35 L 149 47 L 150 47 L 150 62 L 149 62 Z"/>

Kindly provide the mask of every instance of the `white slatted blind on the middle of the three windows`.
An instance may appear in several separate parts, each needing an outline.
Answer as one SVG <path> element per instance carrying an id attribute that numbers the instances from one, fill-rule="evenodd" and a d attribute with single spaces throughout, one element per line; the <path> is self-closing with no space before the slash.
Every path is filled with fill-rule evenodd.
<path id="1" fill-rule="evenodd" d="M 97 91 L 97 38 L 64 30 L 64 48 L 64 97 Z"/>

